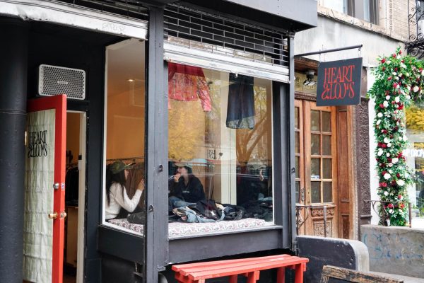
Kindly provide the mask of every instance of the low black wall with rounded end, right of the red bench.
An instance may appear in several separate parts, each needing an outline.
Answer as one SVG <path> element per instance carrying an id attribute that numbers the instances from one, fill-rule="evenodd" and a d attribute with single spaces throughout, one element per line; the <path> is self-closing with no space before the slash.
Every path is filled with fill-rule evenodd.
<path id="1" fill-rule="evenodd" d="M 369 271 L 368 250 L 360 241 L 317 236 L 298 236 L 296 240 L 299 256 L 310 259 L 305 282 L 319 282 L 324 265 Z"/>

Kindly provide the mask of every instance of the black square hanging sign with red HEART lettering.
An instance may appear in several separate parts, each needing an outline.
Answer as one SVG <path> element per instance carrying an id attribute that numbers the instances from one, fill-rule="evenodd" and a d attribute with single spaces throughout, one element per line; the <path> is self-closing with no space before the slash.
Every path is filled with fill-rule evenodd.
<path id="1" fill-rule="evenodd" d="M 319 63 L 317 106 L 360 103 L 362 58 Z"/>

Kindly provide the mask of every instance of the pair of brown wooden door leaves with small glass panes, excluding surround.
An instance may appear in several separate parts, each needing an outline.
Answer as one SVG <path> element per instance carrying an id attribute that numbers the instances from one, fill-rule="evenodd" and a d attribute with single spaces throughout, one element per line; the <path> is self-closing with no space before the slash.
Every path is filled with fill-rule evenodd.
<path id="1" fill-rule="evenodd" d="M 305 221 L 301 234 L 324 236 L 326 230 L 325 236 L 338 236 L 336 151 L 336 108 L 296 100 L 296 197 L 299 217 Z"/>

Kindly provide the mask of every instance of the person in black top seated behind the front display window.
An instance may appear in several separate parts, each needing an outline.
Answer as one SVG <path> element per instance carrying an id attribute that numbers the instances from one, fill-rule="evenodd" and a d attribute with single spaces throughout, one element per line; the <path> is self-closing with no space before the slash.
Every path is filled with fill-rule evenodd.
<path id="1" fill-rule="evenodd" d="M 198 202 L 205 200 L 205 192 L 199 178 L 192 173 L 192 166 L 187 162 L 175 163 L 178 167 L 169 181 L 170 197 L 177 197 L 185 202 Z"/>

